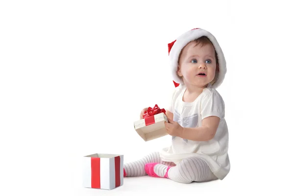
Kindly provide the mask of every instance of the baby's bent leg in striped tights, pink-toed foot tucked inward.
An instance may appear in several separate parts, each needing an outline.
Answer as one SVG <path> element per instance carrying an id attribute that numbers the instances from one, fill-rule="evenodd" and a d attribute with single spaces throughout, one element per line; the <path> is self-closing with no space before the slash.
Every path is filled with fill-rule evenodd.
<path id="1" fill-rule="evenodd" d="M 147 166 L 151 164 L 147 164 Z M 205 161 L 198 157 L 183 159 L 175 167 L 156 164 L 146 167 L 147 174 L 153 177 L 166 177 L 181 183 L 205 182 L 218 179 Z"/>

